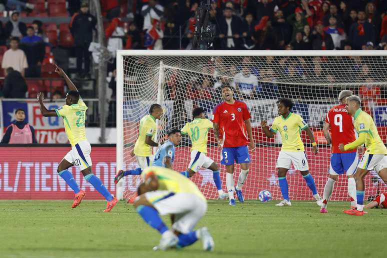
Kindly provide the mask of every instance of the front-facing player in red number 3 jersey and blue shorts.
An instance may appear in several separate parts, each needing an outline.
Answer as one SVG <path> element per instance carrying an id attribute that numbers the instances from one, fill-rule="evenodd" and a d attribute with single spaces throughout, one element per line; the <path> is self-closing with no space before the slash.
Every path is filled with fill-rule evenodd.
<path id="1" fill-rule="evenodd" d="M 255 148 L 252 138 L 250 113 L 247 105 L 233 97 L 229 85 L 221 87 L 223 102 L 213 109 L 213 133 L 221 149 L 220 163 L 226 166 L 226 186 L 229 204 L 235 205 L 234 190 L 240 202 L 243 202 L 242 185 L 248 174 L 250 155 L 247 145 L 251 150 Z M 248 135 L 248 137 L 247 137 Z M 234 162 L 240 164 L 240 173 L 236 187 L 234 186 Z"/>

